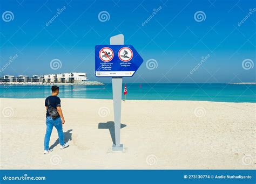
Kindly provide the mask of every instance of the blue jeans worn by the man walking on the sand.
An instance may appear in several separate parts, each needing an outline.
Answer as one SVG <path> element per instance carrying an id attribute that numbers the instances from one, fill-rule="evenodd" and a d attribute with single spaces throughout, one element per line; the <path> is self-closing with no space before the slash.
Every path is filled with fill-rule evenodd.
<path id="1" fill-rule="evenodd" d="M 60 145 L 64 145 L 64 133 L 62 130 L 62 119 L 60 117 L 52 119 L 50 116 L 46 117 L 46 133 L 44 137 L 44 150 L 49 150 L 49 142 L 51 138 L 52 128 L 55 126 L 59 136 Z"/>

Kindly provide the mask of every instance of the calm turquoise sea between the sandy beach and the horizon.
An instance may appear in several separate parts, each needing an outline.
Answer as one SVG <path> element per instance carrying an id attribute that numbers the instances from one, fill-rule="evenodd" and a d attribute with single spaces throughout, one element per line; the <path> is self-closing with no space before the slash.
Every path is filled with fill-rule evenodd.
<path id="1" fill-rule="evenodd" d="M 59 87 L 60 98 L 112 99 L 111 83 L 104 86 Z M 127 92 L 126 100 L 256 102 L 256 85 L 252 84 L 127 83 Z M 0 86 L 0 98 L 45 98 L 49 95 L 51 86 Z"/>

